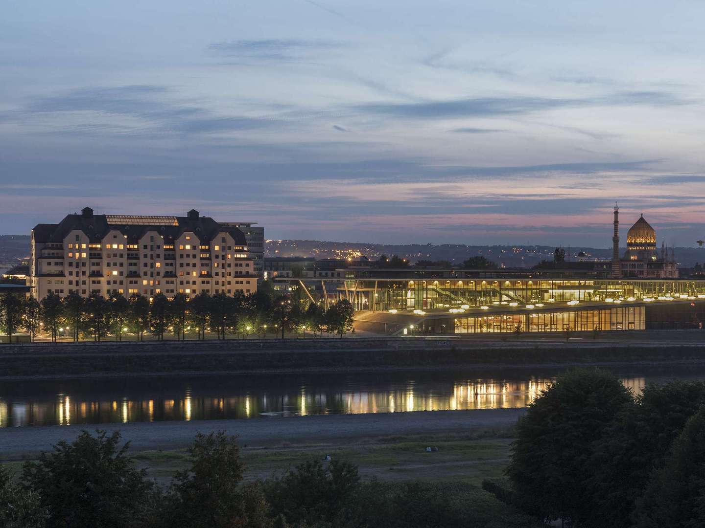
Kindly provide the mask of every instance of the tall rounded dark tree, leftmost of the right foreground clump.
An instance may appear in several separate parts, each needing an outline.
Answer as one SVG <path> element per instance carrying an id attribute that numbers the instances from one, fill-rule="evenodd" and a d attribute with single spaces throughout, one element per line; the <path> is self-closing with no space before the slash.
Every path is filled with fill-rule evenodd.
<path id="1" fill-rule="evenodd" d="M 589 518 L 587 461 L 594 442 L 633 404 L 629 389 L 601 370 L 569 371 L 541 392 L 519 420 L 507 468 L 525 508 L 546 520 Z"/>

